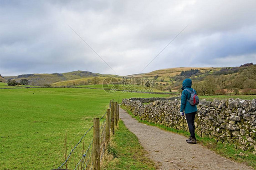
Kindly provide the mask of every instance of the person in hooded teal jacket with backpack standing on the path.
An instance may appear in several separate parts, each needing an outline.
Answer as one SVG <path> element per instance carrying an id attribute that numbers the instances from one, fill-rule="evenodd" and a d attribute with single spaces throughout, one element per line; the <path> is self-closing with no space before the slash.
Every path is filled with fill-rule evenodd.
<path id="1" fill-rule="evenodd" d="M 196 138 L 195 138 L 195 114 L 197 112 L 197 107 L 192 106 L 189 103 L 189 98 L 190 98 L 190 92 L 192 92 L 192 90 L 194 90 L 193 88 L 191 88 L 192 86 L 192 81 L 189 78 L 186 78 L 183 83 L 182 83 L 182 95 L 181 95 L 181 104 L 180 104 L 180 115 L 184 116 L 184 112 L 185 112 L 185 116 L 187 119 L 187 123 L 189 126 L 189 132 L 190 132 L 190 136 L 189 139 L 187 139 L 186 141 L 188 143 L 192 143 L 192 144 L 196 144 Z M 190 92 L 188 92 L 187 90 L 189 90 Z M 194 90 L 195 91 L 195 90 Z M 196 91 L 195 91 L 196 94 Z"/>

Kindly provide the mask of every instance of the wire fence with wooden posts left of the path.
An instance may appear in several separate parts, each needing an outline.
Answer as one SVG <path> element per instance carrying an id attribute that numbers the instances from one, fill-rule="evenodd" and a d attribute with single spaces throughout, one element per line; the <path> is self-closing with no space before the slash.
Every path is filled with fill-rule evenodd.
<path id="1" fill-rule="evenodd" d="M 118 120 L 116 117 L 119 118 L 119 106 L 118 102 L 112 101 L 107 112 L 101 118 L 94 119 L 93 126 L 72 147 L 69 154 L 67 154 L 67 143 L 64 143 L 65 160 L 54 170 L 100 170 L 99 167 L 103 163 L 105 155 L 107 155 L 110 131 L 114 128 L 111 126 L 112 121 Z M 98 122 L 98 124 L 95 124 L 95 122 Z M 115 123 L 117 124 L 117 122 Z M 67 142 L 67 139 L 65 141 Z"/>

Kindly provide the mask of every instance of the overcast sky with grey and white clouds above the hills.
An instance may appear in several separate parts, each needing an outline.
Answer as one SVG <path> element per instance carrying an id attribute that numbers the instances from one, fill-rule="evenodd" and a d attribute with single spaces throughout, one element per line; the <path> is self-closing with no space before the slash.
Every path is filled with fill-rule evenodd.
<path id="1" fill-rule="evenodd" d="M 255 9 L 255 0 L 0 0 L 0 74 L 256 63 Z"/>

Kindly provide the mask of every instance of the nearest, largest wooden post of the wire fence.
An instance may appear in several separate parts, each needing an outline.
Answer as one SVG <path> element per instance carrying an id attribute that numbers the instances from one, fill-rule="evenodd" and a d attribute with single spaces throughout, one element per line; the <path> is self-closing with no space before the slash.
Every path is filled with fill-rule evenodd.
<path id="1" fill-rule="evenodd" d="M 100 170 L 100 119 L 93 119 L 93 170 Z"/>

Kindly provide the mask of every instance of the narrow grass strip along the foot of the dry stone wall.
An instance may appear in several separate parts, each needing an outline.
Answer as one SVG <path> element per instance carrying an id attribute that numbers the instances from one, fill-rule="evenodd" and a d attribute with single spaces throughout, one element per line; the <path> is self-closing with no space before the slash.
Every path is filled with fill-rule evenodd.
<path id="1" fill-rule="evenodd" d="M 176 130 L 164 125 L 141 120 L 138 116 L 134 116 L 133 113 L 127 107 L 124 107 L 123 105 L 121 105 L 121 108 L 123 108 L 126 112 L 128 112 L 128 114 L 130 114 L 133 118 L 137 119 L 138 122 L 140 123 L 143 123 L 149 126 L 157 126 L 160 129 L 163 129 L 165 131 L 178 133 L 179 135 L 183 135 L 187 137 L 189 137 L 190 135 L 188 131 Z M 256 170 L 256 155 L 253 155 L 251 152 L 243 151 L 241 149 L 236 149 L 234 145 L 231 145 L 229 143 L 216 142 L 214 139 L 210 139 L 209 137 L 200 137 L 197 134 L 196 134 L 196 139 L 198 143 L 202 144 L 203 146 L 207 147 L 212 151 L 215 151 L 218 155 L 224 156 L 226 158 L 229 158 L 239 163 L 246 163 L 247 165 L 251 166 L 254 170 Z M 239 156 L 238 154 L 240 152 L 244 153 L 245 155 Z"/>

